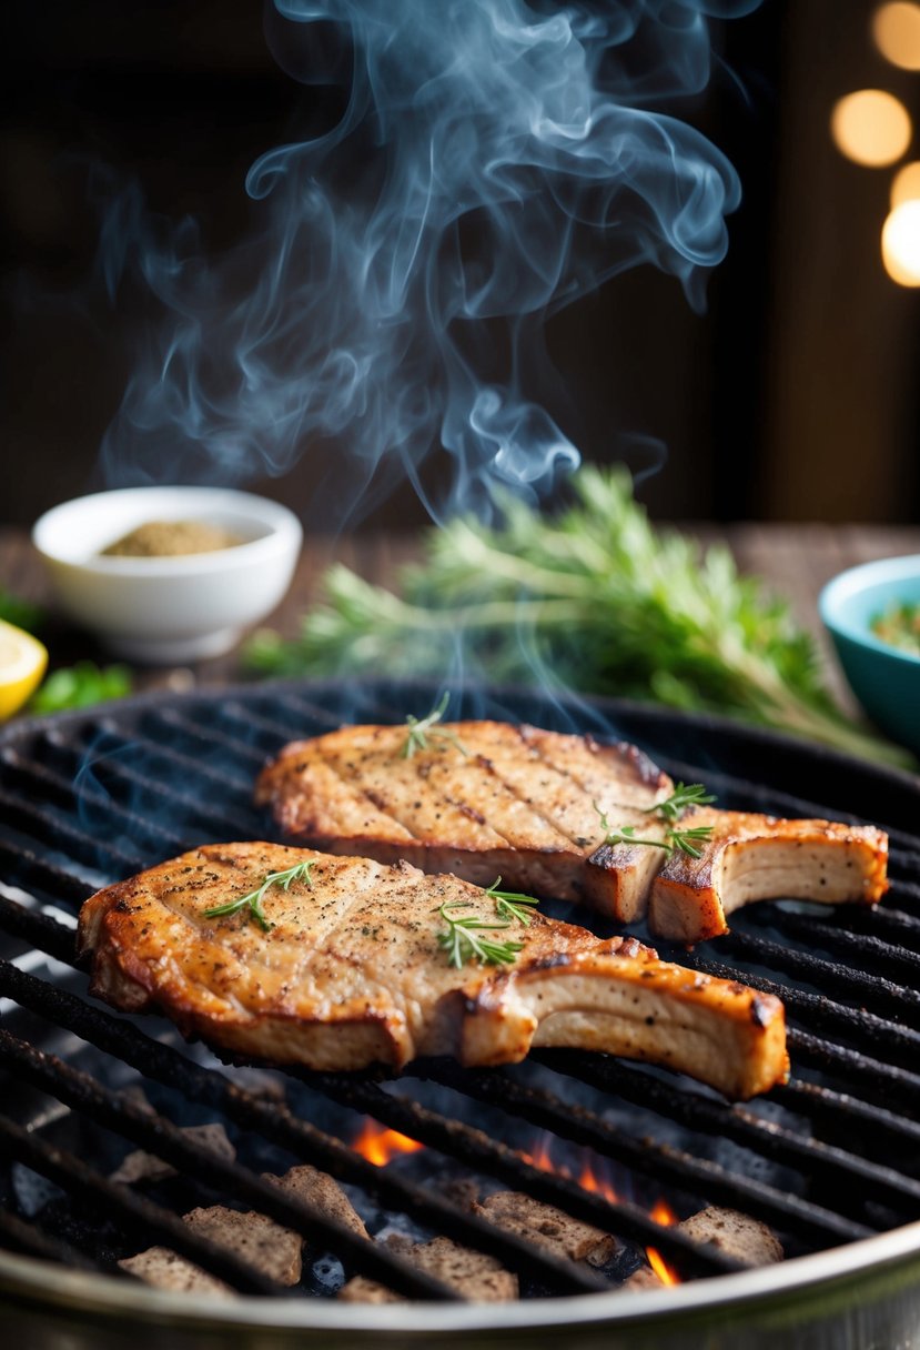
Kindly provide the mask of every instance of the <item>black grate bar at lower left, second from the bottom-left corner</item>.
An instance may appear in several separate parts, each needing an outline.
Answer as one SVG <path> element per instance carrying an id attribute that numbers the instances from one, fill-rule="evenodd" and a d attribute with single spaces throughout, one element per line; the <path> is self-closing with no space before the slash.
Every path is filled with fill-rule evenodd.
<path id="1" fill-rule="evenodd" d="M 5 1157 L 16 1158 L 62 1189 L 76 1192 L 90 1206 L 104 1207 L 108 1215 L 119 1218 L 127 1233 L 136 1235 L 142 1246 L 150 1246 L 151 1239 L 161 1242 L 244 1293 L 287 1292 L 225 1247 L 198 1237 L 169 1210 L 128 1191 L 127 1187 L 109 1181 L 76 1154 L 47 1143 L 34 1131 L 15 1125 L 3 1115 L 0 1115 L 0 1139 L 5 1145 Z"/>

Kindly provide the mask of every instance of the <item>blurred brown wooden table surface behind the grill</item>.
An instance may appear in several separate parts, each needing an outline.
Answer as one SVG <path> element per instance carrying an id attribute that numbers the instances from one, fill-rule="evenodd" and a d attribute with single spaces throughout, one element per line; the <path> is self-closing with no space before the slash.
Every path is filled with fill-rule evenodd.
<path id="1" fill-rule="evenodd" d="M 817 593 L 835 572 L 855 563 L 900 554 L 920 554 L 920 526 L 881 525 L 773 525 L 737 524 L 727 526 L 685 526 L 701 543 L 720 540 L 732 549 L 742 571 L 757 574 L 792 603 L 797 620 L 809 628 L 826 653 L 831 682 L 847 702 L 836 668 L 830 657 L 816 612 Z M 418 535 L 357 535 L 340 540 L 310 540 L 297 568 L 293 586 L 281 608 L 266 620 L 285 636 L 293 636 L 299 616 L 317 594 L 325 567 L 343 562 L 368 580 L 391 585 L 399 566 L 418 559 Z M 22 529 L 0 528 L 0 586 L 26 599 L 50 605 L 50 594 L 40 560 Z M 81 657 L 107 660 L 94 640 L 59 620 L 51 620 L 43 633 L 55 666 Z M 220 684 L 240 676 L 235 652 L 216 660 L 179 668 L 144 668 L 135 671 L 135 687 L 190 688 L 196 684 Z"/>

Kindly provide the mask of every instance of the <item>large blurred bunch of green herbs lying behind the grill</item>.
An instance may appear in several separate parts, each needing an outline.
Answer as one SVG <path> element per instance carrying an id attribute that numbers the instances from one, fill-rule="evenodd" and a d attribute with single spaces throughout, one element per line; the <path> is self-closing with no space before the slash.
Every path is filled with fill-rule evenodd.
<path id="1" fill-rule="evenodd" d="M 270 675 L 442 675 L 463 633 L 464 668 L 490 680 L 727 714 L 913 763 L 835 706 L 812 637 L 727 548 L 656 531 L 622 468 L 585 464 L 572 487 L 553 517 L 503 497 L 499 525 L 459 517 L 432 531 L 402 598 L 333 566 L 299 637 L 259 633 L 247 663 Z"/>

